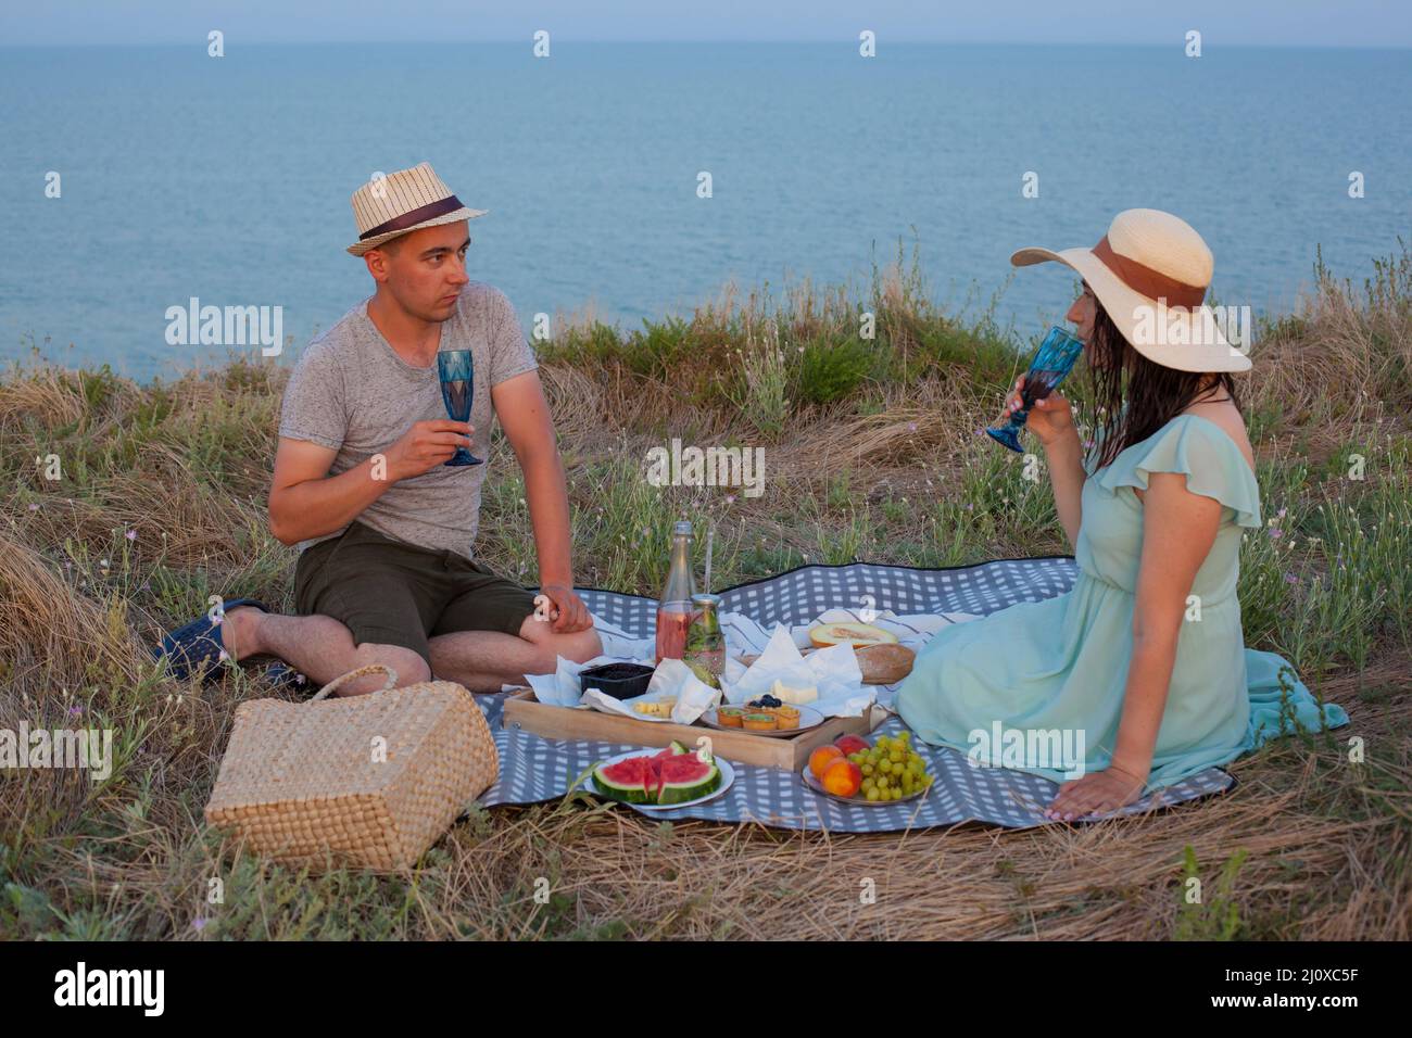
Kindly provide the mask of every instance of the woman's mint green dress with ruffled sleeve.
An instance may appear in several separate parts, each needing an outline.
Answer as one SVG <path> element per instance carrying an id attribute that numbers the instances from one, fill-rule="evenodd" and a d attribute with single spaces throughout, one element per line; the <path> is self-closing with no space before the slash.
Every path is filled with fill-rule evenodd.
<path id="1" fill-rule="evenodd" d="M 1255 476 L 1224 429 L 1185 414 L 1111 465 L 1087 472 L 1075 547 L 1079 576 L 1067 595 L 946 627 L 918 652 L 895 706 L 919 739 L 1065 782 L 1075 777 L 1076 761 L 1056 758 L 1058 741 L 1008 733 L 1069 730 L 1069 747 L 1082 756 L 1086 772 L 1108 765 L 1132 655 L 1142 549 L 1142 503 L 1131 487 L 1145 490 L 1154 472 L 1185 473 L 1192 493 L 1226 507 L 1192 585 L 1200 620 L 1182 624 L 1144 792 L 1293 730 L 1291 712 L 1300 727 L 1320 727 L 1319 703 L 1293 669 L 1285 674 L 1293 691 L 1282 708 L 1279 672 L 1288 664 L 1274 652 L 1245 648 L 1241 634 L 1236 597 L 1241 531 L 1261 528 Z M 1189 617 L 1195 617 L 1190 610 Z M 1323 720 L 1337 727 L 1348 717 L 1326 705 Z M 1082 754 L 1076 733 L 1083 733 Z M 1011 743 L 1007 756 L 998 747 L 990 754 L 997 734 Z"/>

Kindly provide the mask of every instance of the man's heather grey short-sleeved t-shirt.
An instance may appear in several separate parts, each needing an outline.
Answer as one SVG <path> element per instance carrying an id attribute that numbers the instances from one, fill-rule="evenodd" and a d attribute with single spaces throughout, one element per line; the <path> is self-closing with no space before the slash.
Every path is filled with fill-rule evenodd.
<path id="1" fill-rule="evenodd" d="M 402 360 L 369 319 L 367 302 L 305 347 L 284 391 L 280 435 L 337 451 L 329 476 L 385 453 L 414 422 L 446 418 L 436 364 L 414 367 Z M 470 452 L 487 465 L 438 465 L 394 483 L 357 521 L 407 544 L 470 558 L 490 462 L 490 387 L 537 364 L 510 299 L 481 281 L 462 290 L 455 315 L 442 325 L 439 349 L 472 352 Z M 301 541 L 299 551 L 345 530 Z"/>

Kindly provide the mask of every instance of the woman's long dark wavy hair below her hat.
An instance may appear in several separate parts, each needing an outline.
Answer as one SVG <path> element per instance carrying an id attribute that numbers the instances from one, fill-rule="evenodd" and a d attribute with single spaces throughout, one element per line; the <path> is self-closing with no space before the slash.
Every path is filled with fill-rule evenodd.
<path id="1" fill-rule="evenodd" d="M 1093 438 L 1094 470 L 1111 465 L 1124 449 L 1141 443 L 1211 390 L 1224 388 L 1236 410 L 1241 410 L 1230 371 L 1162 367 L 1132 349 L 1103 304 L 1094 301 L 1094 305 L 1097 312 L 1089 343 L 1089 377 L 1099 425 Z M 1220 398 L 1220 393 L 1216 397 Z"/>

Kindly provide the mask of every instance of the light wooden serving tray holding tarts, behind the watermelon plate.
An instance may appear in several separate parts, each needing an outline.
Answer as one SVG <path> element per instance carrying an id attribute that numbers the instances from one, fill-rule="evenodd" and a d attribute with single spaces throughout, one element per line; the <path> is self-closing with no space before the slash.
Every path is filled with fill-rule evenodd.
<path id="1" fill-rule="evenodd" d="M 726 760 L 798 772 L 815 747 L 850 733 L 864 736 L 887 717 L 888 712 L 874 703 L 863 717 L 825 717 L 823 724 L 812 732 L 801 732 L 794 739 L 771 739 L 748 732 L 717 732 L 705 724 L 637 720 L 602 710 L 546 706 L 535 699 L 534 689 L 527 688 L 510 693 L 500 723 L 501 727 L 522 729 L 545 739 L 592 739 L 627 746 L 669 746 L 676 740 L 695 748 L 698 739 L 709 736 L 712 751 Z"/>

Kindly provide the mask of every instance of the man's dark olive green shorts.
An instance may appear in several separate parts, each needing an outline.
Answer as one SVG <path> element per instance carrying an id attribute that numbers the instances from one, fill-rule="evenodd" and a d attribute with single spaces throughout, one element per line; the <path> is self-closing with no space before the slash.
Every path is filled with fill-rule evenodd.
<path id="1" fill-rule="evenodd" d="M 402 645 L 431 667 L 428 640 L 438 634 L 518 636 L 534 595 L 453 551 L 394 541 L 354 521 L 299 554 L 294 606 L 299 616 L 333 617 L 354 645 Z"/>

